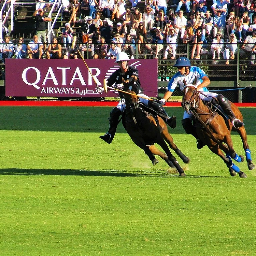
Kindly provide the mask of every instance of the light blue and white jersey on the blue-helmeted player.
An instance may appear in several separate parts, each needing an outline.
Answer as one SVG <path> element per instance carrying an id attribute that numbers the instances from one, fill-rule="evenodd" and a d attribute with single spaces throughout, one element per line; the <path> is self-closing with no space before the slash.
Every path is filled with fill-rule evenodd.
<path id="1" fill-rule="evenodd" d="M 181 75 L 180 72 L 177 72 L 170 80 L 168 84 L 168 91 L 174 92 L 176 86 L 179 86 L 180 90 L 183 91 L 184 89 L 184 83 L 183 80 L 185 79 L 187 84 L 193 84 L 195 78 L 196 78 L 196 84 L 195 86 L 198 86 L 203 82 L 202 78 L 206 76 L 208 77 L 205 72 L 199 68 L 199 67 L 190 67 L 189 68 L 189 74 L 188 75 Z M 203 87 L 200 88 L 199 91 L 205 91 L 207 92 L 207 88 Z"/>

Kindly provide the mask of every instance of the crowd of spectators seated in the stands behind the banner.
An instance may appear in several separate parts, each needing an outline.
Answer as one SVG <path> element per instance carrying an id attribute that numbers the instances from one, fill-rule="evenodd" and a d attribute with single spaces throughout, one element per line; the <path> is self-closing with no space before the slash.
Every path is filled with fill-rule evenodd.
<path id="1" fill-rule="evenodd" d="M 42 5 L 41 1 L 33 13 L 36 33 L 27 46 L 22 37 L 15 46 L 10 43 L 8 24 L 3 24 L 6 36 L 5 44 L 0 45 L 0 61 L 4 63 L 13 55 L 41 58 L 43 53 L 48 59 L 80 58 L 78 50 L 69 47 L 74 35 L 79 34 L 77 45 L 84 58 L 114 59 L 119 52 L 134 58 L 136 47 L 138 54 L 143 47 L 155 59 L 160 53 L 163 59 L 175 59 L 178 46 L 186 54 L 189 45 L 191 59 L 200 59 L 208 52 L 212 59 L 223 58 L 228 65 L 240 43 L 254 64 L 256 0 L 145 0 L 144 5 L 138 5 L 140 0 L 130 2 L 132 8 L 126 7 L 124 0 L 70 0 L 63 6 L 69 20 L 60 38 L 47 42 L 46 24 L 51 19 L 44 8 L 51 2 Z M 5 12 L 2 14 L 4 20 Z"/>

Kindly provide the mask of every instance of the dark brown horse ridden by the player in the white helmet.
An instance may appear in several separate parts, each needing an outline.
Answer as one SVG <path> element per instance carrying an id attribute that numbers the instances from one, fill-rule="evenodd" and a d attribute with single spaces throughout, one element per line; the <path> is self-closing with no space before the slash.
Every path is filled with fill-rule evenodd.
<path id="1" fill-rule="evenodd" d="M 158 155 L 164 159 L 171 168 L 176 168 L 180 176 L 186 176 L 178 161 L 172 155 L 166 142 L 184 163 L 189 163 L 189 158 L 186 157 L 173 143 L 173 138 L 169 134 L 163 119 L 157 115 L 148 113 L 145 110 L 144 105 L 140 103 L 136 93 L 131 89 L 132 88 L 125 90 L 124 88 L 125 91 L 133 95 L 124 94 L 126 114 L 125 121 L 123 119 L 123 125 L 132 141 L 144 150 L 153 165 L 159 162 L 154 156 Z M 158 150 L 154 145 L 155 143 L 161 146 L 165 153 Z"/>

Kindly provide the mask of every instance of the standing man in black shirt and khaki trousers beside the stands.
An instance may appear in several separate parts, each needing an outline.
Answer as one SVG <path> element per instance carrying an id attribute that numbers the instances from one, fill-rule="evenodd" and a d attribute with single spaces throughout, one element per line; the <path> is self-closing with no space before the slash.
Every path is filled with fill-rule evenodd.
<path id="1" fill-rule="evenodd" d="M 36 20 L 36 35 L 38 36 L 38 40 L 46 44 L 46 22 L 52 21 L 52 19 L 44 15 L 44 10 L 42 8 L 35 10 L 33 16 Z"/>

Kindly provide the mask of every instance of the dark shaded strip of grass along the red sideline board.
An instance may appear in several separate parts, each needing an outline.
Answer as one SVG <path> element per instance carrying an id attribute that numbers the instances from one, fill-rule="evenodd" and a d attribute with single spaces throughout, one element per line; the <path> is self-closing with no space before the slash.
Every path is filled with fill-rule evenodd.
<path id="1" fill-rule="evenodd" d="M 106 132 L 112 107 L 2 107 L 1 130 L 60 131 L 60 132 Z M 181 125 L 183 109 L 166 107 L 166 112 L 177 116 L 177 127 L 171 134 L 184 133 Z M 239 108 L 244 117 L 248 135 L 255 135 L 256 108 Z M 122 124 L 117 132 L 126 133 Z"/>

